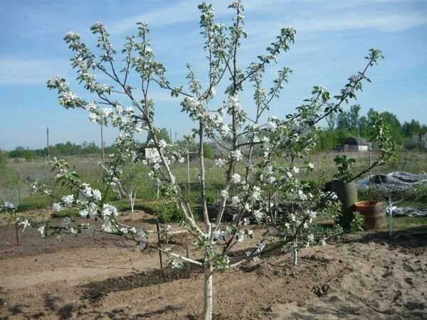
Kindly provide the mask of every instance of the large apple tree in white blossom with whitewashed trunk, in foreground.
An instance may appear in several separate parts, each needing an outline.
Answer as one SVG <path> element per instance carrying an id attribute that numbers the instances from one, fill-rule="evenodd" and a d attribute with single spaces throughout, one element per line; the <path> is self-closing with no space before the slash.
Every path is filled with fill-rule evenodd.
<path id="1" fill-rule="evenodd" d="M 325 241 L 313 233 L 312 221 L 318 215 L 337 210 L 339 206 L 331 193 L 323 192 L 320 186 L 305 178 L 305 174 L 314 169 L 309 159 L 317 141 L 317 124 L 342 110 L 349 100 L 356 97 L 362 90 L 362 84 L 369 81 L 367 70 L 382 58 L 381 51 L 369 50 L 365 67 L 350 76 L 337 95 L 331 97 L 325 87 L 315 86 L 310 97 L 295 112 L 279 119 L 269 114 L 270 104 L 279 98 L 292 70 L 278 68 L 277 78 L 268 89 L 263 85 L 263 76 L 279 55 L 290 50 L 295 41 L 295 30 L 281 29 L 266 52 L 243 69 L 237 58 L 238 49 L 246 38 L 243 5 L 241 1 L 234 1 L 229 8 L 234 12 L 233 22 L 231 26 L 224 26 L 216 23 L 211 4 L 199 6 L 201 35 L 207 56 L 206 86 L 201 85 L 191 65 L 187 65 L 187 89 L 167 80 L 164 65 L 152 51 L 149 29 L 144 23 L 137 23 L 137 35 L 126 38 L 121 54 L 110 43 L 109 33 L 100 22 L 90 27 L 97 37 L 100 55 L 95 55 L 85 46 L 78 33 L 65 35 L 65 42 L 75 53 L 71 65 L 77 71 L 77 80 L 90 93 L 90 100 L 76 95 L 68 82 L 59 76 L 47 82 L 49 89 L 57 90 L 60 105 L 66 109 L 83 109 L 93 122 L 111 124 L 120 129 L 121 134 L 115 140 L 117 153 L 107 164 L 109 178 L 104 193 L 82 181 L 70 171 L 65 161 L 55 159 L 53 169 L 57 181 L 72 191 L 68 196 L 57 198 L 56 210 L 78 208 L 80 216 L 88 220 L 77 223 L 67 218 L 60 226 L 46 223 L 37 226 L 38 230 L 43 237 L 78 234 L 85 230 L 113 233 L 134 240 L 142 249 L 152 246 L 163 250 L 174 266 L 189 261 L 203 267 L 203 319 L 211 319 L 212 315 L 214 272 L 235 267 L 270 250 L 283 248 L 296 252 L 300 247 Z M 122 63 L 117 62 L 121 60 Z M 104 75 L 110 83 L 97 82 L 95 73 Z M 138 75 L 139 83 L 130 84 L 131 73 Z M 219 107 L 213 107 L 216 87 L 223 82 L 228 83 L 226 90 L 221 92 L 223 102 Z M 154 122 L 156 102 L 150 98 L 150 89 L 154 85 L 176 97 L 181 112 L 188 114 L 195 124 L 193 136 L 186 139 L 189 143 L 194 138 L 198 140 L 202 223 L 196 223 L 197 213 L 181 192 L 172 169 L 173 164 L 182 161 L 186 155 L 186 144 L 174 146 L 158 137 L 159 128 Z M 243 106 L 240 102 L 243 89 L 253 92 L 250 105 Z M 137 95 L 142 95 L 142 98 L 138 99 Z M 158 158 L 144 159 L 138 151 L 135 134 L 142 131 L 150 133 L 150 144 L 157 149 Z M 228 152 L 222 159 L 216 159 L 216 165 L 223 169 L 223 189 L 216 218 L 209 218 L 206 201 L 206 139 L 220 144 Z M 224 144 L 224 140 L 231 143 Z M 255 152 L 259 149 L 262 150 L 261 156 Z M 106 202 L 106 193 L 120 180 L 122 167 L 129 161 L 147 164 L 152 178 L 162 182 L 164 194 L 172 197 L 179 206 L 185 228 L 203 250 L 203 259 L 190 260 L 157 248 L 149 242 L 150 230 L 125 225 L 117 219 L 117 208 Z M 236 164 L 243 164 L 239 167 L 244 169 L 236 171 Z M 231 193 L 232 187 L 236 190 L 234 193 Z M 51 190 L 39 183 L 35 183 L 33 188 L 55 197 Z M 231 223 L 223 221 L 227 206 L 236 209 Z M 93 219 L 102 220 L 102 225 L 91 222 Z M 26 227 L 31 225 L 28 220 L 21 223 Z M 254 235 L 258 229 L 263 230 L 262 234 Z M 248 248 L 246 254 L 231 255 L 238 242 L 253 237 L 258 241 L 254 247 Z"/>

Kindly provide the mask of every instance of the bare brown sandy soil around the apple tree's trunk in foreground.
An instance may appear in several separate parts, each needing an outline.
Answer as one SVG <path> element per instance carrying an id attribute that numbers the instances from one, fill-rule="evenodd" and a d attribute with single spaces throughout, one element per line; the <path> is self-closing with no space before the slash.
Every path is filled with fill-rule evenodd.
<path id="1" fill-rule="evenodd" d="M 149 223 L 149 215 L 135 219 Z M 4 228 L 1 228 L 3 239 Z M 421 238 L 423 237 L 424 238 Z M 110 235 L 0 245 L 2 319 L 197 319 L 202 274 Z M 14 234 L 9 231 L 10 242 Z M 183 238 L 169 245 L 184 250 Z M 427 239 L 353 236 L 214 275 L 214 319 L 427 319 Z M 191 255 L 198 252 L 191 251 Z"/>

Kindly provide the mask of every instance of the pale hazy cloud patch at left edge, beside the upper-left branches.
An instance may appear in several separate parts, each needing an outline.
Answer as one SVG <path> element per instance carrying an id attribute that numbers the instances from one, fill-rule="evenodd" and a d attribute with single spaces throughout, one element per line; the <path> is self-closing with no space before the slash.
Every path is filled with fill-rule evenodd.
<path id="1" fill-rule="evenodd" d="M 53 75 L 67 73 L 67 59 L 0 56 L 0 85 L 36 85 Z"/>

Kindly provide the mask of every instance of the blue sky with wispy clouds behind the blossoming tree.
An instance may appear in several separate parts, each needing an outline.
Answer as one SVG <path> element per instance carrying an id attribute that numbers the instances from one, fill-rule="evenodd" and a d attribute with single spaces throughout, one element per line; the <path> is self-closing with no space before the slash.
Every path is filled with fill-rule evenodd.
<path id="1" fill-rule="evenodd" d="M 229 2 L 212 1 L 219 22 L 231 22 Z M 45 85 L 53 75 L 62 75 L 83 95 L 73 81 L 72 53 L 63 36 L 78 32 L 93 48 L 95 37 L 89 27 L 94 21 L 107 26 L 117 49 L 125 36 L 136 33 L 137 21 L 148 23 L 154 54 L 166 66 L 172 85 L 186 85 L 187 62 L 203 82 L 206 66 L 197 4 L 192 0 L 0 0 L 0 147 L 46 146 L 46 127 L 51 144 L 100 143 L 99 125 L 89 122 L 83 110 L 60 107 L 56 92 Z M 386 58 L 369 70 L 372 83 L 357 101 L 362 112 L 373 107 L 393 112 L 401 122 L 414 118 L 427 123 L 427 1 L 248 0 L 243 5 L 248 33 L 238 55 L 243 70 L 264 53 L 280 28 L 297 30 L 295 45 L 265 78 L 268 88 L 275 70 L 281 66 L 293 70 L 273 114 L 283 117 L 292 112 L 310 96 L 313 85 L 325 85 L 334 94 L 349 75 L 363 68 L 369 48 L 379 48 Z M 241 96 L 243 107 L 251 108 L 251 95 L 248 90 Z M 158 127 L 176 130 L 178 137 L 190 132 L 194 126 L 179 112 L 180 100 L 161 90 L 154 90 L 152 97 Z M 104 135 L 111 144 L 117 131 L 107 127 Z"/>

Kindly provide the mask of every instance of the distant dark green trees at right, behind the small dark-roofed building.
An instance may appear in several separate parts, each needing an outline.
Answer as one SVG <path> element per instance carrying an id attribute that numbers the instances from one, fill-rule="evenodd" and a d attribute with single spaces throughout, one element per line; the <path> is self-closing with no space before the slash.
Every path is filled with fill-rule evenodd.
<path id="1" fill-rule="evenodd" d="M 342 144 L 348 137 L 363 137 L 369 141 L 371 137 L 371 114 L 374 109 L 369 109 L 366 115 L 360 115 L 360 106 L 353 105 L 348 111 L 331 114 L 327 120 L 327 127 L 320 134 L 319 150 L 332 150 Z M 396 115 L 391 112 L 381 113 L 391 129 L 391 137 L 396 144 L 404 149 L 427 149 L 427 125 L 420 124 L 418 120 L 399 122 Z"/>

